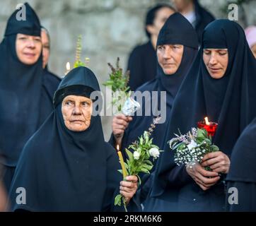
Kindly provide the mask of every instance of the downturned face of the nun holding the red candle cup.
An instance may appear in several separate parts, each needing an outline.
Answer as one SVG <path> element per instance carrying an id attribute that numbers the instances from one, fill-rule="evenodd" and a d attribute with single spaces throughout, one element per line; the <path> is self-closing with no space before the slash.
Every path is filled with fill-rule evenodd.
<path id="1" fill-rule="evenodd" d="M 211 78 L 222 78 L 228 67 L 228 49 L 204 49 L 204 64 Z"/>

